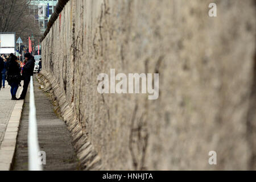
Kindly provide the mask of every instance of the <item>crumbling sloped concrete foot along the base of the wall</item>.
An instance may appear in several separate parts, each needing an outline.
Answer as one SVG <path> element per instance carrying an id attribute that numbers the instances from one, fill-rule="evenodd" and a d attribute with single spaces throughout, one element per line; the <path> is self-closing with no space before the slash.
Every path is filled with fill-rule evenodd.
<path id="1" fill-rule="evenodd" d="M 72 108 L 68 105 L 65 94 L 61 92 L 56 78 L 46 71 L 40 72 L 36 78 L 38 78 L 41 85 L 44 85 L 41 86 L 44 92 L 52 90 L 57 104 L 59 104 L 61 117 L 71 133 L 72 144 L 75 147 L 77 158 L 80 160 L 81 169 L 101 170 L 101 157 L 94 150 L 92 143 L 90 143 L 86 134 L 82 130 L 81 123 L 76 118 Z"/>

